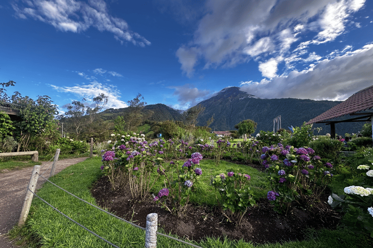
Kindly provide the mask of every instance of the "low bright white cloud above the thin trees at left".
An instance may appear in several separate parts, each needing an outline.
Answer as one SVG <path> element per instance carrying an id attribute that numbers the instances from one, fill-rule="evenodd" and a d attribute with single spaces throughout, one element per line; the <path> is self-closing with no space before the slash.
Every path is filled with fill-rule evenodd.
<path id="1" fill-rule="evenodd" d="M 105 109 L 120 109 L 128 107 L 125 102 L 120 100 L 120 92 L 114 85 L 101 84 L 97 81 L 94 81 L 87 85 L 76 85 L 72 87 L 60 87 L 51 84 L 50 86 L 57 92 L 71 93 L 75 96 L 78 96 L 79 99 L 85 98 L 88 103 L 90 103 L 94 97 L 103 93 L 109 97 Z"/>

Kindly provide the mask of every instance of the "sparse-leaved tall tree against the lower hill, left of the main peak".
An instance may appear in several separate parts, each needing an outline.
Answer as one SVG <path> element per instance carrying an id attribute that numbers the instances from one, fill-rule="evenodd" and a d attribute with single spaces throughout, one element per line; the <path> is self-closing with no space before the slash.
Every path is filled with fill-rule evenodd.
<path id="1" fill-rule="evenodd" d="M 143 122 L 144 118 L 141 110 L 144 109 L 147 104 L 143 100 L 144 97 L 138 93 L 133 100 L 128 101 L 128 111 L 125 112 L 123 116 L 127 131 L 136 131 L 136 127 Z"/>

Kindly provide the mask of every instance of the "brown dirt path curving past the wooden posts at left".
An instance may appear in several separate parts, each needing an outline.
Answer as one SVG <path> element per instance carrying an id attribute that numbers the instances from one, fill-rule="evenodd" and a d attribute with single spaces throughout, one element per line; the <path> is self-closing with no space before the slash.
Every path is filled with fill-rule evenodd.
<path id="1" fill-rule="evenodd" d="M 85 159 L 86 157 L 78 157 L 58 160 L 55 173 Z M 42 166 L 45 165 L 40 171 L 40 173 L 44 173 L 43 177 L 49 177 L 52 162 L 42 162 Z M 47 170 L 48 168 L 49 170 Z M 18 247 L 13 244 L 15 241 L 10 241 L 7 238 L 6 234 L 18 223 L 32 171 L 33 167 L 0 173 L 0 248 Z M 44 182 L 45 179 L 39 178 L 36 189 L 40 188 Z"/>

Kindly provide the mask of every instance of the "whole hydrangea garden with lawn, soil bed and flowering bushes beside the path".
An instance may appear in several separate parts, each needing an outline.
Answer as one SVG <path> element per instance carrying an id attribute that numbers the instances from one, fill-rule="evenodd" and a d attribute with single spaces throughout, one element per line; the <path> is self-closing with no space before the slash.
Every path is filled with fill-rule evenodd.
<path id="1" fill-rule="evenodd" d="M 312 126 L 292 131 L 247 141 L 116 132 L 96 144 L 99 156 L 52 181 L 142 227 L 157 213 L 159 232 L 201 247 L 370 247 L 372 147 L 344 157 L 339 140 Z M 144 245 L 141 230 L 50 184 L 38 195 L 119 247 Z M 34 247 L 109 247 L 38 199 L 20 234 Z M 186 247 L 164 237 L 157 245 Z"/>

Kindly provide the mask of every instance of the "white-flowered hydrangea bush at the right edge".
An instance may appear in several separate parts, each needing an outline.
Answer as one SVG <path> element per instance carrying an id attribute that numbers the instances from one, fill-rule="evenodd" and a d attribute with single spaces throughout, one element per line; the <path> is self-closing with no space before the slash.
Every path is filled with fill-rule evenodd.
<path id="1" fill-rule="evenodd" d="M 346 213 L 343 220 L 355 231 L 373 237 L 373 170 L 369 165 L 359 165 L 357 170 L 362 171 L 358 178 L 345 181 L 351 184 L 344 188 L 346 195 L 332 193 L 328 203 Z"/>

